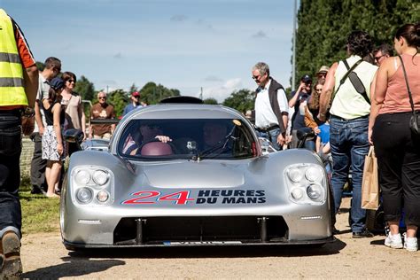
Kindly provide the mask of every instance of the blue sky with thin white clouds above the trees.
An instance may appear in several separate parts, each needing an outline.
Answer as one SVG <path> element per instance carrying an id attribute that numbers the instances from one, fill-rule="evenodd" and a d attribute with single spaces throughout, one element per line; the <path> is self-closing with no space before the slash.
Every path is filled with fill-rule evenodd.
<path id="1" fill-rule="evenodd" d="M 292 0 L 0 0 L 36 60 L 55 56 L 95 89 L 157 82 L 222 102 L 267 62 L 290 85 Z"/>

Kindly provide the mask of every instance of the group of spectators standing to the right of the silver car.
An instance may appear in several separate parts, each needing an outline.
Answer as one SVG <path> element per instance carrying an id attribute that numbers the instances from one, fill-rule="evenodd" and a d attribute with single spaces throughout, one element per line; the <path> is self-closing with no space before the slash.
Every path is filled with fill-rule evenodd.
<path id="1" fill-rule="evenodd" d="M 269 76 L 268 65 L 256 64 L 252 69 L 258 85 L 255 127 L 277 150 L 296 148 L 299 129 L 315 132 L 315 142 L 307 141 L 305 147 L 331 160 L 335 214 L 352 173 L 350 226 L 354 238 L 373 237 L 366 228 L 361 198 L 364 159 L 374 145 L 385 222 L 390 229 L 385 245 L 416 251 L 420 137 L 409 123 L 420 110 L 420 24 L 400 27 L 393 41 L 393 48 L 387 44 L 374 48 L 368 33 L 352 32 L 347 37 L 347 57 L 331 67 L 321 66 L 315 83 L 309 74 L 303 75 L 288 105 L 284 88 Z M 407 227 L 404 242 L 401 219 Z M 334 232 L 339 231 L 334 228 Z"/>

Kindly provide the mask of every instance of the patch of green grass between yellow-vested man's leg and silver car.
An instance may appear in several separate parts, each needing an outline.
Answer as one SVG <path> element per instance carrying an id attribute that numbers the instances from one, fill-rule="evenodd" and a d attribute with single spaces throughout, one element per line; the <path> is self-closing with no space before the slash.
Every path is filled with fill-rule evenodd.
<path id="1" fill-rule="evenodd" d="M 22 206 L 22 233 L 55 232 L 59 230 L 59 199 L 31 194 L 30 182 L 22 178 L 19 189 Z"/>

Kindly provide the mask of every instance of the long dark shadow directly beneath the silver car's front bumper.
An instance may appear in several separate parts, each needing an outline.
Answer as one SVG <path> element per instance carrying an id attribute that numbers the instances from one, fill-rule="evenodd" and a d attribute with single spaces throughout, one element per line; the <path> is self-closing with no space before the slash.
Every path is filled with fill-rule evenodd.
<path id="1" fill-rule="evenodd" d="M 336 240 L 317 247 L 314 245 L 246 245 L 246 246 L 194 246 L 194 247 L 144 247 L 98 249 L 71 252 L 73 259 L 92 258 L 136 258 L 136 259 L 177 259 L 177 258 L 254 258 L 254 257 L 310 257 L 339 253 L 346 243 Z"/>

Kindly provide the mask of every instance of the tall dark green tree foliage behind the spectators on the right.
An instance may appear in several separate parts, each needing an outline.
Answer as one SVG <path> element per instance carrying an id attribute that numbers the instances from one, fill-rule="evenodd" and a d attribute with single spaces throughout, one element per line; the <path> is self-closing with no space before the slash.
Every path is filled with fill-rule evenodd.
<path id="1" fill-rule="evenodd" d="M 396 30 L 420 19 L 418 0 L 301 0 L 297 30 L 297 81 L 346 57 L 347 35 L 364 30 L 375 43 L 393 43 Z"/>

